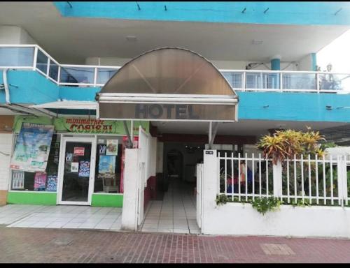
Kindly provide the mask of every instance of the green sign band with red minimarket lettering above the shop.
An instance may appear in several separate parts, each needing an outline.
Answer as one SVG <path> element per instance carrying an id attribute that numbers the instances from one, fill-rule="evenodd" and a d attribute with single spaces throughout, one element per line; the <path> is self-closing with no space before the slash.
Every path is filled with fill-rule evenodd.
<path id="1" fill-rule="evenodd" d="M 20 133 L 22 123 L 43 124 L 55 126 L 57 133 L 82 133 L 82 134 L 117 134 L 126 135 L 123 121 L 109 121 L 99 119 L 87 119 L 78 117 L 25 117 L 16 116 L 13 124 L 14 133 Z M 130 129 L 131 122 L 127 121 Z M 149 132 L 148 121 L 134 121 L 134 135 L 139 134 L 139 126 Z"/>

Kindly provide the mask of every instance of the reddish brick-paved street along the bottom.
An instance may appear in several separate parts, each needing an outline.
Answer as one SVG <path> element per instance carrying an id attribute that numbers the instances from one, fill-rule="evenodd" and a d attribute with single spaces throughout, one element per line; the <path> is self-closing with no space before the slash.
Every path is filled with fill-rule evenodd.
<path id="1" fill-rule="evenodd" d="M 1 226 L 0 262 L 350 262 L 350 240 Z"/>

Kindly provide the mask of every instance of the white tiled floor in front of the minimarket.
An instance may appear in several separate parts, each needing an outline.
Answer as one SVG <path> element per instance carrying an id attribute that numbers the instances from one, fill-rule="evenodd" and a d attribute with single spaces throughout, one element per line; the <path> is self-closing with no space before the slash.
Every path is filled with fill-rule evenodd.
<path id="1" fill-rule="evenodd" d="M 0 224 L 22 228 L 120 230 L 121 215 L 119 207 L 8 204 L 0 207 Z"/>

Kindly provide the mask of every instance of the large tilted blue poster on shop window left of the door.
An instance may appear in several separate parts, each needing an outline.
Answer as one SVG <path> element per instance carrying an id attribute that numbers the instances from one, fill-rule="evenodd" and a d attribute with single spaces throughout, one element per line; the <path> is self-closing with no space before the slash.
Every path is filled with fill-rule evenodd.
<path id="1" fill-rule="evenodd" d="M 10 168 L 27 172 L 45 172 L 54 126 L 23 123 Z"/>

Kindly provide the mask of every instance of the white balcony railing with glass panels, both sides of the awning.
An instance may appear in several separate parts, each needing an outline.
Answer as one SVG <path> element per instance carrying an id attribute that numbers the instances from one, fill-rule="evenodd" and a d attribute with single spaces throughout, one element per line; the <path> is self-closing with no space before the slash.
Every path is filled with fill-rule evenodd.
<path id="1" fill-rule="evenodd" d="M 59 85 L 103 87 L 120 66 L 59 64 L 38 45 L 0 45 L 0 69 L 36 70 Z M 236 91 L 350 93 L 350 73 L 220 70 Z"/>

